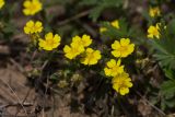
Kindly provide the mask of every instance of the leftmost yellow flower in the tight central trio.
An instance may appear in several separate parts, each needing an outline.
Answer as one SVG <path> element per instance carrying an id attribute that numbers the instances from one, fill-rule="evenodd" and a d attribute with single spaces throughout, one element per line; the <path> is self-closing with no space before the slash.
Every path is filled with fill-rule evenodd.
<path id="1" fill-rule="evenodd" d="M 75 45 L 74 44 L 74 45 L 71 45 L 71 46 L 66 45 L 63 47 L 65 56 L 68 59 L 74 59 L 77 56 L 79 56 L 83 51 L 84 51 L 84 47 L 82 45 Z"/>

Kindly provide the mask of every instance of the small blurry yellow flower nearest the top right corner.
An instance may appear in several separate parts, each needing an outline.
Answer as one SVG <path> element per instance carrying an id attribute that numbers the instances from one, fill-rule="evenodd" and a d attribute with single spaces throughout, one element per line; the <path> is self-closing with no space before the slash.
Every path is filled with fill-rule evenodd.
<path id="1" fill-rule="evenodd" d="M 149 14 L 151 17 L 160 16 L 161 15 L 161 10 L 159 7 L 155 8 L 150 8 Z"/>

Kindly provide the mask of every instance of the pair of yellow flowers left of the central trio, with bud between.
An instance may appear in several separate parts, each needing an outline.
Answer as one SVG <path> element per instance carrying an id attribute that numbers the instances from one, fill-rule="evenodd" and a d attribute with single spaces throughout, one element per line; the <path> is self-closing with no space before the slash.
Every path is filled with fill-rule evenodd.
<path id="1" fill-rule="evenodd" d="M 44 50 L 54 50 L 60 45 L 61 37 L 51 32 L 45 35 L 45 39 L 39 36 L 39 33 L 43 31 L 43 23 L 39 21 L 28 21 L 24 26 L 24 33 L 32 35 L 32 39 L 38 44 L 38 47 Z"/>

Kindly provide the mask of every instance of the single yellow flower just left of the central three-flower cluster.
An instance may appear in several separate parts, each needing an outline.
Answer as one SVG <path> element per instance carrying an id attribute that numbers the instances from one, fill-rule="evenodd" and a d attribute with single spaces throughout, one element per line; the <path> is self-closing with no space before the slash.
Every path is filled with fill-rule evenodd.
<path id="1" fill-rule="evenodd" d="M 60 40 L 61 37 L 58 34 L 47 33 L 45 39 L 39 38 L 38 45 L 44 50 L 52 50 L 60 45 Z"/>

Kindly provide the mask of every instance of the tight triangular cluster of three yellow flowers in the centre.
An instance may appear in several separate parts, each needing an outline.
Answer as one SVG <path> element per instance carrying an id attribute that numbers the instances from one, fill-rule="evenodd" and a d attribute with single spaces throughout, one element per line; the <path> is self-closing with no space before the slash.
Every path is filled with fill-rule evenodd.
<path id="1" fill-rule="evenodd" d="M 74 36 L 72 43 L 66 45 L 63 48 L 65 56 L 68 59 L 74 59 L 81 55 L 81 63 L 83 65 L 95 65 L 101 59 L 101 51 L 94 50 L 89 46 L 92 44 L 92 38 L 89 35 Z"/>

